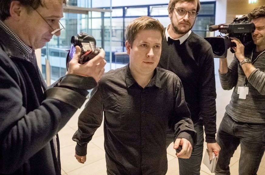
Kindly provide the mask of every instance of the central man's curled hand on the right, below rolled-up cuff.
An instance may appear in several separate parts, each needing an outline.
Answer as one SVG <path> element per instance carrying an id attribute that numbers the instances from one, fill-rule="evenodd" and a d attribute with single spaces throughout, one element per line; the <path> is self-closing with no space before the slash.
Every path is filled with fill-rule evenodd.
<path id="1" fill-rule="evenodd" d="M 177 138 L 174 143 L 174 149 L 178 149 L 179 145 L 182 145 L 182 150 L 179 153 L 176 153 L 178 158 L 188 159 L 192 153 L 192 145 L 185 138 Z"/>

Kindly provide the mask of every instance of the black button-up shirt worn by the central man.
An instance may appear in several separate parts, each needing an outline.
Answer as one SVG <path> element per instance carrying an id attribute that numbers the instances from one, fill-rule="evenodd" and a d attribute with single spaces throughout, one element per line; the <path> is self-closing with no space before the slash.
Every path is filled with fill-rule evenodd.
<path id="1" fill-rule="evenodd" d="M 104 147 L 108 174 L 165 174 L 166 128 L 192 146 L 196 132 L 180 79 L 156 68 L 145 88 L 131 76 L 129 66 L 105 73 L 81 112 L 76 154 L 87 154 L 87 143 L 100 127 L 104 112 Z"/>

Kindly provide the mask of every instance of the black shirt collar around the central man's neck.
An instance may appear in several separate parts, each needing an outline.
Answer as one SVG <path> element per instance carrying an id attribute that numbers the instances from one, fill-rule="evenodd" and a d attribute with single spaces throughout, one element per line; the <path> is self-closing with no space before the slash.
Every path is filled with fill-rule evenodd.
<path id="1" fill-rule="evenodd" d="M 130 86 L 132 86 L 134 83 L 137 83 L 136 80 L 134 79 L 134 77 L 131 75 L 129 64 L 127 66 L 125 66 L 126 67 L 126 69 L 125 69 L 125 82 L 126 82 L 126 85 L 128 88 Z M 161 88 L 160 75 L 159 75 L 159 71 L 157 70 L 157 67 L 154 70 L 153 77 L 151 78 L 150 82 L 148 83 L 148 85 L 146 87 L 151 87 L 151 86 L 157 86 L 158 88 Z"/>

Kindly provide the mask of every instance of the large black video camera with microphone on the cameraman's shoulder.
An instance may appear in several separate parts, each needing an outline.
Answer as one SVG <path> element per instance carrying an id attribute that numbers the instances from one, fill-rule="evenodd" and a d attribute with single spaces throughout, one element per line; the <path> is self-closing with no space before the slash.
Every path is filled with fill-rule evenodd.
<path id="1" fill-rule="evenodd" d="M 247 49 L 252 49 L 253 40 L 251 33 L 255 31 L 255 25 L 248 21 L 247 16 L 244 15 L 240 18 L 234 18 L 233 23 L 225 23 L 219 25 L 212 25 L 209 27 L 209 31 L 217 31 L 220 33 L 228 34 L 224 37 L 205 37 L 212 46 L 213 55 L 215 58 L 226 58 L 227 50 L 230 47 L 236 46 L 231 42 L 230 37 L 238 38 L 241 43 Z M 247 46 L 247 47 L 246 47 Z M 234 53 L 234 50 L 230 48 L 230 51 Z"/>

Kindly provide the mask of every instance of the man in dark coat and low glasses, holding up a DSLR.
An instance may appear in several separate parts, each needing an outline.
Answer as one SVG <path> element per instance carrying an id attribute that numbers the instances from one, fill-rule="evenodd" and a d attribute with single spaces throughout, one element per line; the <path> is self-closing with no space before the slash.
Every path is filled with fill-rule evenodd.
<path id="1" fill-rule="evenodd" d="M 61 174 L 56 135 L 104 73 L 105 52 L 47 89 L 35 49 L 60 35 L 65 0 L 0 1 L 0 174 Z M 56 135 L 56 136 L 55 136 Z"/>

